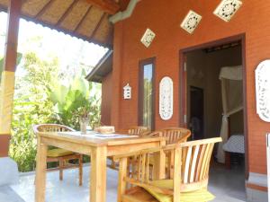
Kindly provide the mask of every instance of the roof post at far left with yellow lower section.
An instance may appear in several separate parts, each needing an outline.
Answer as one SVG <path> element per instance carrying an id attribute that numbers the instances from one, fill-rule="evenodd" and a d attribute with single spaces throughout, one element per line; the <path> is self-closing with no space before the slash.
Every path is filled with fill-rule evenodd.
<path id="1" fill-rule="evenodd" d="M 15 69 L 22 0 L 11 0 L 8 9 L 7 35 L 4 49 L 4 68 L 0 93 L 0 157 L 7 156 L 14 102 Z"/>

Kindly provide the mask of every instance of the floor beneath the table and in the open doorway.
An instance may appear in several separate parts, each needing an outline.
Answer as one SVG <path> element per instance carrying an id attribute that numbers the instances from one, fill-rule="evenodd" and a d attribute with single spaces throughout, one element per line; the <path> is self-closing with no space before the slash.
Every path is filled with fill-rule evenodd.
<path id="1" fill-rule="evenodd" d="M 49 172 L 47 180 L 47 202 L 88 202 L 88 176 L 90 168 L 84 167 L 84 185 L 77 186 L 77 170 L 64 172 L 64 180 L 58 180 L 58 172 Z M 117 171 L 107 171 L 107 202 L 116 202 L 117 197 Z M 25 202 L 34 202 L 34 175 L 23 175 L 20 184 L 13 186 Z M 242 169 L 226 171 L 215 166 L 211 170 L 209 189 L 216 196 L 214 202 L 243 202 L 245 200 L 244 172 Z M 2 202 L 0 200 L 0 202 Z M 4 201 L 5 202 L 5 201 Z"/>

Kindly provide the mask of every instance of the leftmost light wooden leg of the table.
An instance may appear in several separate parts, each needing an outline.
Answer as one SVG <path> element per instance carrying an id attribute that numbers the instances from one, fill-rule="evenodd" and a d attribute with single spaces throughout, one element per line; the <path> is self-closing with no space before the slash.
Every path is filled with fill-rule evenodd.
<path id="1" fill-rule="evenodd" d="M 47 169 L 47 145 L 41 143 L 38 137 L 37 167 L 35 179 L 35 202 L 45 201 L 46 169 Z"/>

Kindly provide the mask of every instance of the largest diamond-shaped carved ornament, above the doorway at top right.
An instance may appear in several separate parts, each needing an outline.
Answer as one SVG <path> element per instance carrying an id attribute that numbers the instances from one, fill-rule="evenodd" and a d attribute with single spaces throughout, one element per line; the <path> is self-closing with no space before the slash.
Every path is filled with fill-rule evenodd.
<path id="1" fill-rule="evenodd" d="M 222 0 L 214 11 L 214 14 L 220 17 L 223 21 L 229 22 L 232 16 L 237 13 L 241 5 L 242 2 L 240 0 Z"/>

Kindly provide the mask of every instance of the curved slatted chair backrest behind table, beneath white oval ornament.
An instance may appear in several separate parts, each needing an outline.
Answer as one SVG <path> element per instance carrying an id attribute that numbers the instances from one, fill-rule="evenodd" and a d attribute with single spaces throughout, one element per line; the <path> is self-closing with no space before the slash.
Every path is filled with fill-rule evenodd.
<path id="1" fill-rule="evenodd" d="M 167 127 L 159 131 L 160 136 L 167 137 L 166 145 L 184 143 L 191 136 L 191 131 L 184 127 Z"/>

